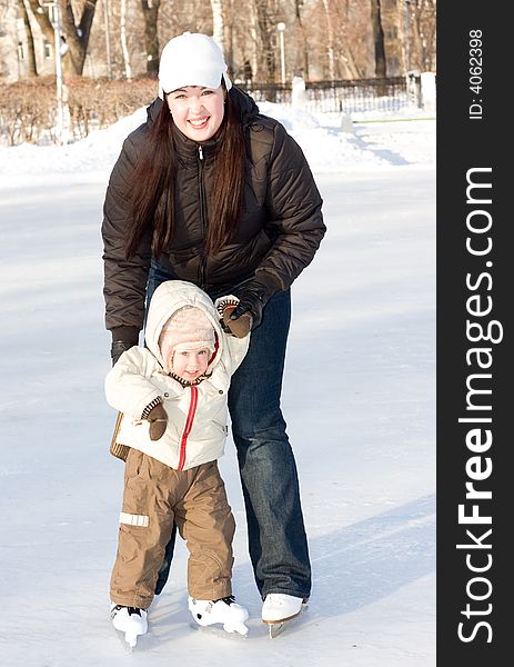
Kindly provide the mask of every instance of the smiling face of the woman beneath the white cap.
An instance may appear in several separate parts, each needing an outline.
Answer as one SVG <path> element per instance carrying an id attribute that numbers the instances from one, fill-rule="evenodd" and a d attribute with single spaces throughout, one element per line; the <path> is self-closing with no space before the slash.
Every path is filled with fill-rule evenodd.
<path id="1" fill-rule="evenodd" d="M 224 91 L 218 88 L 185 86 L 167 96 L 173 122 L 193 141 L 206 141 L 215 135 L 224 116 Z"/>

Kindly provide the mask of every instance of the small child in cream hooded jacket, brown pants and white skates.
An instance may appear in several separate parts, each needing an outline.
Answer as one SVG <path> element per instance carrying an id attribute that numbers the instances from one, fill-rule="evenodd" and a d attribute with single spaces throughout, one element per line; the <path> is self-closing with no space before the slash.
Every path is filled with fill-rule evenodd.
<path id="1" fill-rule="evenodd" d="M 130 447 L 111 616 L 132 646 L 148 629 L 147 609 L 174 524 L 190 551 L 193 618 L 202 626 L 222 623 L 229 633 L 248 631 L 248 611 L 232 596 L 235 524 L 216 464 L 226 439 L 230 378 L 250 338 L 249 316 L 242 330 L 230 328 L 236 302 L 218 299 L 220 320 L 200 288 L 181 280 L 161 283 L 149 307 L 148 349 L 123 352 L 105 378 L 107 400 L 123 414 L 117 441 Z"/>

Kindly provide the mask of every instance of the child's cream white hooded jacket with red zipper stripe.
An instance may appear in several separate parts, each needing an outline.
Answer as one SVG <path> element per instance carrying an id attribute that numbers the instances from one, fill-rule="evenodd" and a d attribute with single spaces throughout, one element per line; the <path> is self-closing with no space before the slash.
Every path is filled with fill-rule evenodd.
<path id="1" fill-rule="evenodd" d="M 200 308 L 216 335 L 216 351 L 211 356 L 208 377 L 191 387 L 183 387 L 163 370 L 158 345 L 164 323 L 184 306 Z M 105 378 L 109 405 L 123 412 L 117 441 L 177 470 L 220 458 L 228 434 L 230 379 L 248 351 L 250 335 L 241 339 L 224 334 L 215 306 L 205 292 L 190 282 L 169 280 L 153 293 L 145 341 L 148 349 L 134 346 L 123 352 Z M 167 411 L 168 425 L 162 438 L 151 440 L 150 425 L 141 416 L 158 398 Z"/>

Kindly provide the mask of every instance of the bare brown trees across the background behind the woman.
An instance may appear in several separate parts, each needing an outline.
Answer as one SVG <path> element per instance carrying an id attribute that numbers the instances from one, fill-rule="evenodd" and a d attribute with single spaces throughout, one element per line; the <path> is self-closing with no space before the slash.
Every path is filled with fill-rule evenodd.
<path id="1" fill-rule="evenodd" d="M 435 0 L 0 0 L 0 77 L 54 71 L 59 4 L 64 77 L 154 77 L 165 42 L 212 34 L 239 81 L 278 82 L 278 24 L 286 80 L 435 71 Z"/>

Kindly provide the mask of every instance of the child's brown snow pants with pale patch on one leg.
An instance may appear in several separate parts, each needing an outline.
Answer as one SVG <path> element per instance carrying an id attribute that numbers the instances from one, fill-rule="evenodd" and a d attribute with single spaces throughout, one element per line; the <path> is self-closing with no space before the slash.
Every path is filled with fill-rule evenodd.
<path id="1" fill-rule="evenodd" d="M 131 448 L 111 575 L 113 603 L 150 606 L 173 524 L 190 551 L 189 595 L 201 600 L 231 595 L 235 522 L 216 461 L 179 471 Z"/>

